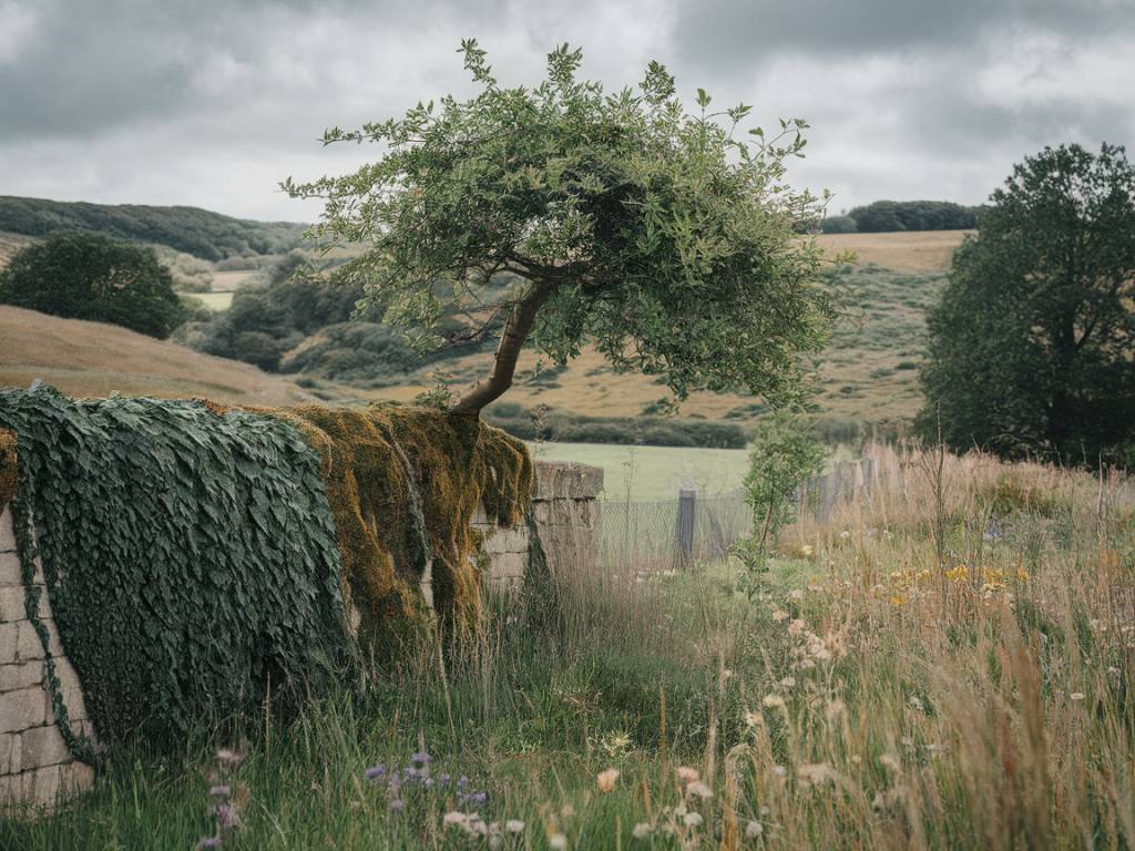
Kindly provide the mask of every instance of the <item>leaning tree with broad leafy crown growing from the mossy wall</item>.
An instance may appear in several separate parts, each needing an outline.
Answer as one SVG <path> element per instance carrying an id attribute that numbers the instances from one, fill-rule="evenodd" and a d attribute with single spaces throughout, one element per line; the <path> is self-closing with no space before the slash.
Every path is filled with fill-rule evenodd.
<path id="1" fill-rule="evenodd" d="M 354 174 L 284 183 L 325 201 L 314 231 L 326 244 L 367 244 L 334 275 L 362 284 L 420 345 L 443 342 L 431 329 L 461 313 L 446 340 L 499 337 L 491 371 L 453 410 L 477 414 L 501 396 L 527 342 L 560 364 L 594 344 L 678 398 L 791 395 L 830 318 L 819 254 L 794 236 L 821 204 L 783 179 L 807 125 L 738 136 L 749 107 L 707 112 L 698 90 L 688 115 L 657 62 L 638 89 L 608 94 L 577 78 L 580 51 L 564 45 L 538 86 L 506 89 L 476 41 L 462 51 L 476 96 L 328 130 L 326 143 L 386 151 Z"/>

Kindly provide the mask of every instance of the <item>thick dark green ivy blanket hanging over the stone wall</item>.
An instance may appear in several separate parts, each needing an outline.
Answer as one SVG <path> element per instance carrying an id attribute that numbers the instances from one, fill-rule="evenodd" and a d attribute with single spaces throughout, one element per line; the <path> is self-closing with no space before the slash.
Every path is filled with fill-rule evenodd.
<path id="1" fill-rule="evenodd" d="M 0 427 L 18 436 L 25 573 L 39 555 L 102 741 L 171 744 L 205 711 L 286 703 L 345 664 L 335 525 L 295 429 L 43 385 L 0 390 Z"/>

